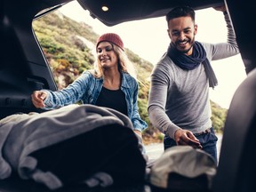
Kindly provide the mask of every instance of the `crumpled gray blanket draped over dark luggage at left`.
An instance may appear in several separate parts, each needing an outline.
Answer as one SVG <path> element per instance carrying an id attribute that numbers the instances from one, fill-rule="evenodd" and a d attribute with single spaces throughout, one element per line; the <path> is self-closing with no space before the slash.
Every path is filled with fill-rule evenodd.
<path id="1" fill-rule="evenodd" d="M 52 172 L 39 170 L 36 158 L 29 154 L 108 124 L 132 129 L 127 116 L 111 108 L 92 105 L 71 105 L 41 114 L 5 117 L 0 120 L 0 179 L 10 177 L 15 171 L 21 179 L 33 179 L 51 189 L 60 188 L 61 180 Z M 136 137 L 142 152 L 142 140 Z"/>

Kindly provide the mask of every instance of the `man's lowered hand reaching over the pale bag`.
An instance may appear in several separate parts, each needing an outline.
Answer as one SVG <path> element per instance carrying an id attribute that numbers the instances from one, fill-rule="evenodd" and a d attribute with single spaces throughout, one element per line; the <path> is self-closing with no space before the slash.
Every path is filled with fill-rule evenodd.
<path id="1" fill-rule="evenodd" d="M 193 148 L 202 148 L 199 140 L 196 139 L 193 132 L 188 130 L 179 129 L 174 134 L 174 140 L 176 141 L 177 145 L 189 145 Z"/>

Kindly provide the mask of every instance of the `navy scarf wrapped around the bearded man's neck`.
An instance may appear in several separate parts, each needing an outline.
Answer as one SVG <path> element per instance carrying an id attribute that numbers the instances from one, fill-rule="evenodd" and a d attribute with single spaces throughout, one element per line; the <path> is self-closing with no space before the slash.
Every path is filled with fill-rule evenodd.
<path id="1" fill-rule="evenodd" d="M 185 70 L 193 70 L 194 68 L 198 67 L 200 63 L 203 63 L 205 74 L 209 78 L 209 86 L 214 89 L 214 86 L 218 84 L 212 66 L 209 60 L 206 58 L 206 52 L 204 50 L 204 47 L 199 42 L 195 42 L 195 44 L 193 44 L 192 55 L 188 56 L 182 52 L 179 52 L 173 46 L 173 44 L 170 44 L 170 46 L 168 47 L 167 54 L 175 63 L 175 65 Z"/>

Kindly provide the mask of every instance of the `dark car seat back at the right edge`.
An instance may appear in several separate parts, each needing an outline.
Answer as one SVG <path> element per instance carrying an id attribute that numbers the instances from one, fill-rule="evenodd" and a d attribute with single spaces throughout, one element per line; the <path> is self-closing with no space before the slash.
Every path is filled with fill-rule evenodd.
<path id="1" fill-rule="evenodd" d="M 228 109 L 213 192 L 255 191 L 256 69 L 237 88 Z"/>

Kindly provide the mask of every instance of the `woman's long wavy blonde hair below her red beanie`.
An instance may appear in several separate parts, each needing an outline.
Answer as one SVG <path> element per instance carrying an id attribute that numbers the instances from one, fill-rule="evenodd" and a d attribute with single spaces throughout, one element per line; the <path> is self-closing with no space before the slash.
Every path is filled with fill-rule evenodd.
<path id="1" fill-rule="evenodd" d="M 118 69 L 120 71 L 129 73 L 131 76 L 136 78 L 135 68 L 132 62 L 128 59 L 125 52 L 120 47 L 116 46 L 116 44 L 112 44 L 112 46 L 113 46 L 114 52 L 116 52 L 116 55 L 117 55 Z M 104 76 L 103 69 L 101 68 L 100 60 L 98 57 L 97 57 L 97 60 L 95 60 L 94 62 L 92 74 L 97 78 Z"/>

